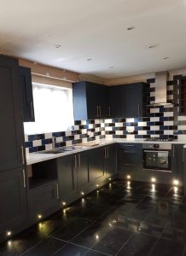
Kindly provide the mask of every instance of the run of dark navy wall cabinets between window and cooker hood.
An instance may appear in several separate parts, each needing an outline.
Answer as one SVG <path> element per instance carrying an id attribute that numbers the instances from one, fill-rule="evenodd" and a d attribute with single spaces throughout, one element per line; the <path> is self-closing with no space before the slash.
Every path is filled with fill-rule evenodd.
<path id="1" fill-rule="evenodd" d="M 141 117 L 145 107 L 145 83 L 109 87 L 90 82 L 73 84 L 75 120 Z"/>

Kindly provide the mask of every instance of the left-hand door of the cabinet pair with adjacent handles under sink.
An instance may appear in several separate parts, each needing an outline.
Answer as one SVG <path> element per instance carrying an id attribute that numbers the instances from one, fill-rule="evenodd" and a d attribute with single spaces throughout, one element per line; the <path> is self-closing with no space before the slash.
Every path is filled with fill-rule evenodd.
<path id="1" fill-rule="evenodd" d="M 61 201 L 73 201 L 77 198 L 76 154 L 57 159 L 59 194 Z"/>

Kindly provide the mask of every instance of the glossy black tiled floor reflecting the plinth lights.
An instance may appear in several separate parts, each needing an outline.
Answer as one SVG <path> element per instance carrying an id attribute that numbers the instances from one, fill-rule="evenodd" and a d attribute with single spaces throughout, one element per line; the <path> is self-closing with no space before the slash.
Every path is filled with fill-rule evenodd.
<path id="1" fill-rule="evenodd" d="M 186 199 L 180 188 L 115 181 L 7 241 L 0 255 L 186 255 Z"/>

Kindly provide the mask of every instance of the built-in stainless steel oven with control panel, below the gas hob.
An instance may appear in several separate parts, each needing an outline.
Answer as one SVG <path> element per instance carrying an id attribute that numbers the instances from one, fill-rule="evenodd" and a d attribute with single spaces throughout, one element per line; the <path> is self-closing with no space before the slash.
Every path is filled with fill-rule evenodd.
<path id="1" fill-rule="evenodd" d="M 144 143 L 143 170 L 171 172 L 171 143 Z"/>

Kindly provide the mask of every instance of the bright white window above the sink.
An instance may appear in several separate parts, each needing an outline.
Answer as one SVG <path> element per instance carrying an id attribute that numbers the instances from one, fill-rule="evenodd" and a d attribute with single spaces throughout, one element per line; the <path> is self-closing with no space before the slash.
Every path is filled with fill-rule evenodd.
<path id="1" fill-rule="evenodd" d="M 73 125 L 73 91 L 32 83 L 35 122 L 24 123 L 26 134 L 66 131 Z"/>

